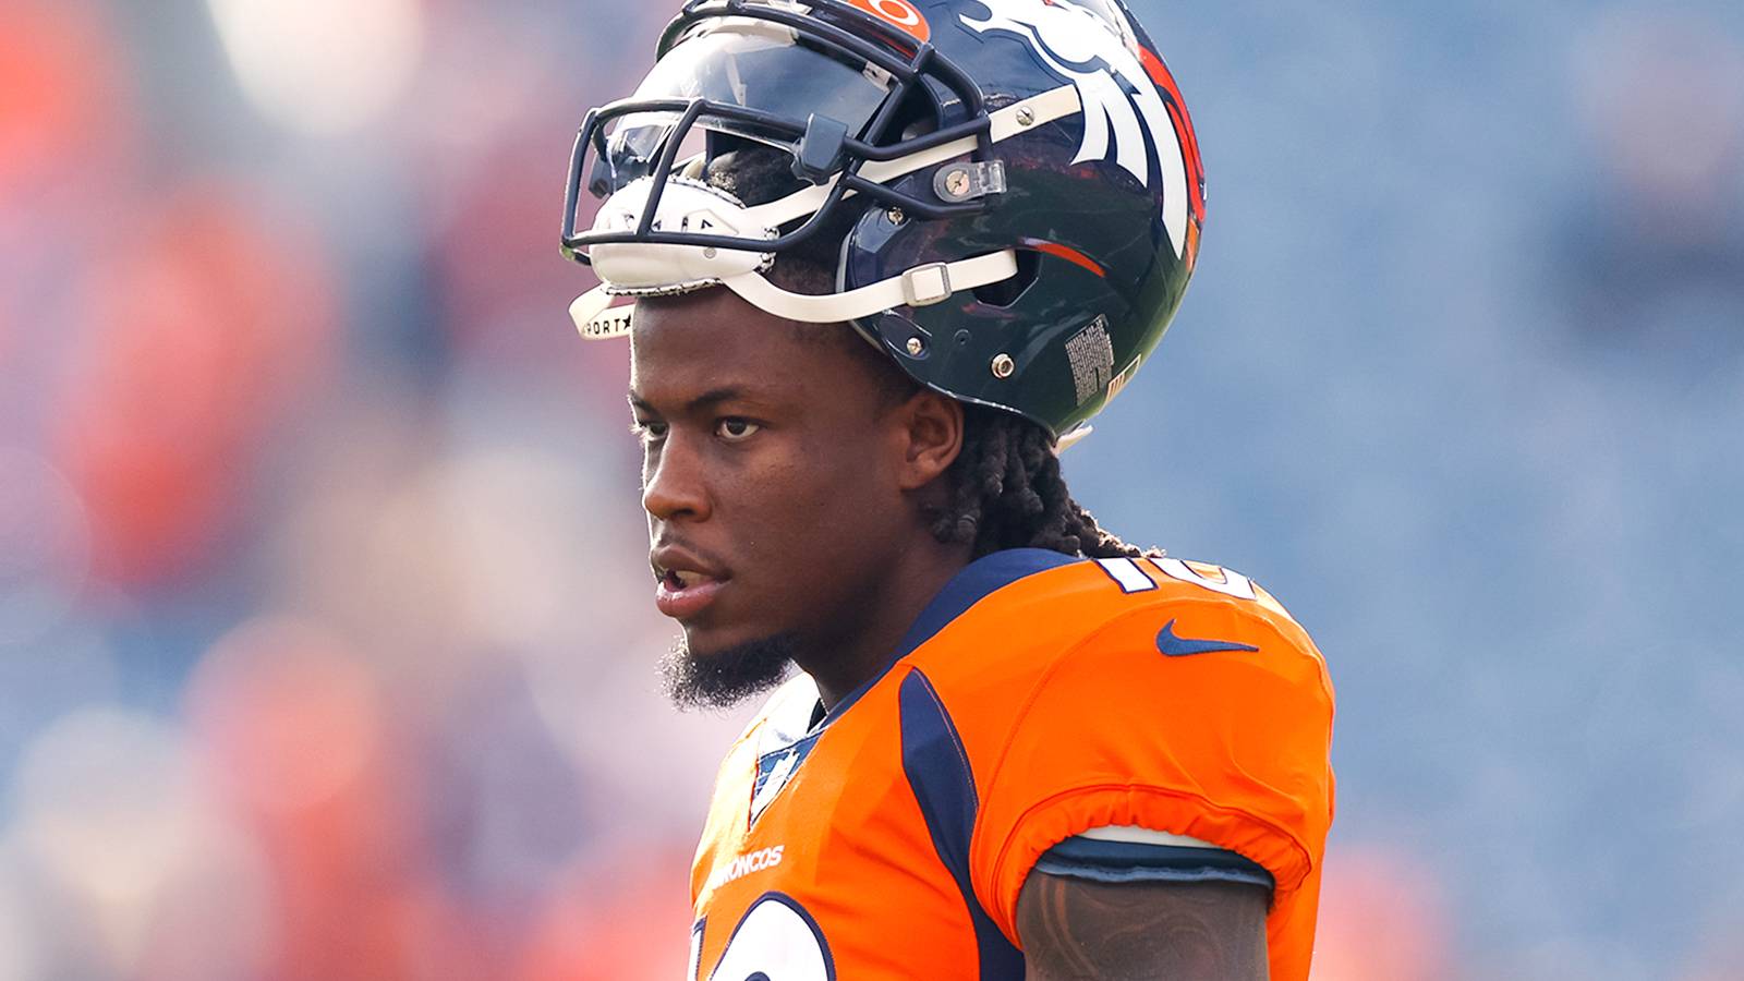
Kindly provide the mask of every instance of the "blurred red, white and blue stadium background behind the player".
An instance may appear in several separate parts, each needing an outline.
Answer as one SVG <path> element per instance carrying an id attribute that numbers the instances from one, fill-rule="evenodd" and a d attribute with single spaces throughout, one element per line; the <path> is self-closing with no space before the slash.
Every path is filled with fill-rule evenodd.
<path id="1" fill-rule="evenodd" d="M 673 7 L 0 0 L 0 981 L 682 974 L 556 255 Z M 1744 7 L 1134 7 L 1210 220 L 1067 475 L 1332 665 L 1315 979 L 1744 978 Z"/>

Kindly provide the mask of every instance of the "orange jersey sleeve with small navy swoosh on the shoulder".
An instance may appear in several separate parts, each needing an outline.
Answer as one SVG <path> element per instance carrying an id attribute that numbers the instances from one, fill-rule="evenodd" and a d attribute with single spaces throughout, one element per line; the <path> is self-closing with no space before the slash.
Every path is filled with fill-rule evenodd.
<path id="1" fill-rule="evenodd" d="M 1331 735 L 1325 665 L 1294 621 L 1226 597 L 1121 613 L 1055 658 L 1015 717 L 971 845 L 977 895 L 1022 946 L 1038 861 L 1127 826 L 1228 850 L 1285 902 L 1318 878 Z"/>

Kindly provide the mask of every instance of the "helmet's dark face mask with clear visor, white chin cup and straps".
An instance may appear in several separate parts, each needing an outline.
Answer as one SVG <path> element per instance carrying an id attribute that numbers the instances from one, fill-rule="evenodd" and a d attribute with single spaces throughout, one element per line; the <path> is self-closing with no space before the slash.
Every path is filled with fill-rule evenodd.
<path id="1" fill-rule="evenodd" d="M 938 93 L 968 119 L 916 131 L 903 108 Z M 781 3 L 692 3 L 637 94 L 591 112 L 576 141 L 563 251 L 602 279 L 572 305 L 577 328 L 621 335 L 630 311 L 612 309 L 614 297 L 717 285 L 787 319 L 835 323 L 1010 279 L 1010 250 L 828 295 L 781 290 L 764 272 L 776 255 L 844 227 L 844 209 L 881 206 L 923 220 L 980 213 L 1003 190 L 998 138 L 1076 112 L 1071 96 L 987 113 L 980 91 L 930 45 L 903 54 Z M 787 154 L 799 189 L 746 204 L 703 180 L 710 161 L 745 143 Z M 957 201 L 891 187 L 957 157 L 970 162 Z M 591 230 L 577 234 L 582 185 L 605 201 Z"/>

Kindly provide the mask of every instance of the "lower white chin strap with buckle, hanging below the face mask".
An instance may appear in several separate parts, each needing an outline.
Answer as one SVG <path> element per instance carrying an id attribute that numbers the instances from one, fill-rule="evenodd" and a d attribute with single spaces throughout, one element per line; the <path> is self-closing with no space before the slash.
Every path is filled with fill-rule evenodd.
<path id="1" fill-rule="evenodd" d="M 870 286 L 846 293 L 792 293 L 771 283 L 760 272 L 745 272 L 720 279 L 745 302 L 778 318 L 799 323 L 842 323 L 860 319 L 895 307 L 926 307 L 949 300 L 963 290 L 989 286 L 1017 276 L 1017 251 L 1005 250 L 957 262 L 916 265 L 902 276 L 881 279 Z M 706 288 L 706 286 L 698 286 Z M 635 304 L 612 305 L 616 297 L 607 286 L 595 286 L 569 305 L 576 330 L 589 340 L 623 337 L 630 333 Z M 630 297 L 626 297 L 630 298 Z M 631 298 L 633 300 L 633 298 Z"/>

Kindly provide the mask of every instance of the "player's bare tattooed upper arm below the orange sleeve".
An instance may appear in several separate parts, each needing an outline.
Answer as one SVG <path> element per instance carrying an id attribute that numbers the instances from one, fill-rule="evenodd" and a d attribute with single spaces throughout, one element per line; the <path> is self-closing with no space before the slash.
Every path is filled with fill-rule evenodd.
<path id="1" fill-rule="evenodd" d="M 1032 873 L 1017 901 L 1027 981 L 1263 981 L 1264 887 Z"/>

